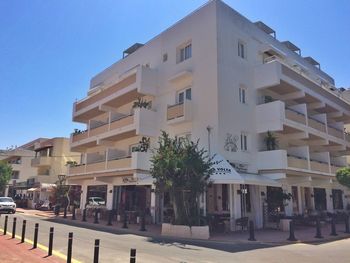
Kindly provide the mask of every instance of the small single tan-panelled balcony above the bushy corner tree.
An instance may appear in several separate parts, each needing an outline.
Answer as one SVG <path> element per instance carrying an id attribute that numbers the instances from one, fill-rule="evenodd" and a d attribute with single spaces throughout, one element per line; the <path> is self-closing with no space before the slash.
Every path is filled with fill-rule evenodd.
<path id="1" fill-rule="evenodd" d="M 167 108 L 167 123 L 175 125 L 192 120 L 192 101 L 169 105 Z"/>

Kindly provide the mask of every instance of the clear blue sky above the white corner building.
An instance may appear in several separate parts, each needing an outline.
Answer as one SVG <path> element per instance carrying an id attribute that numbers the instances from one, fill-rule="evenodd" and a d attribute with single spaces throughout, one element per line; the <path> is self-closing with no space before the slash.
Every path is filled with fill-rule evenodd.
<path id="1" fill-rule="evenodd" d="M 226 0 L 350 86 L 350 1 Z M 0 0 L 0 149 L 69 136 L 90 78 L 204 0 Z"/>

